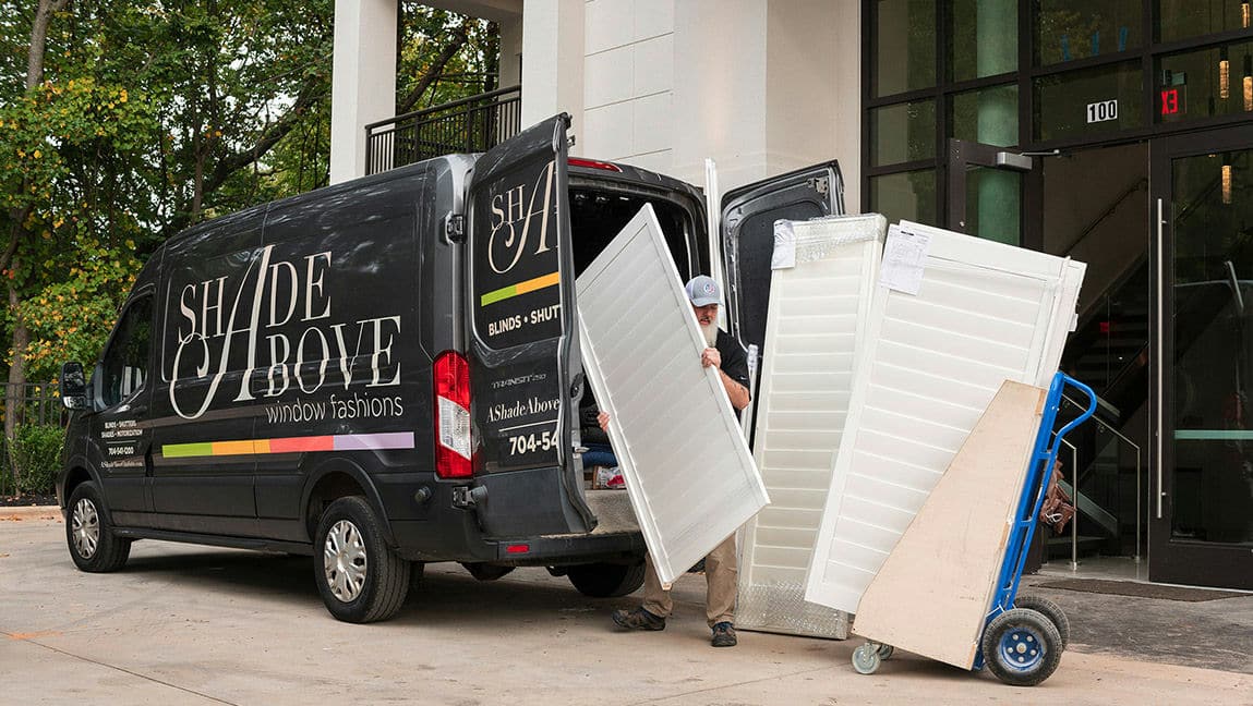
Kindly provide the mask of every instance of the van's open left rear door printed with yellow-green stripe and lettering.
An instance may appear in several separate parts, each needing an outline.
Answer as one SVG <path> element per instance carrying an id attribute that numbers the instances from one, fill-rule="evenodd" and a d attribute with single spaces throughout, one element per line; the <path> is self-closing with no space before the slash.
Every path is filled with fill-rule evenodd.
<path id="1" fill-rule="evenodd" d="M 573 453 L 583 372 L 568 208 L 568 115 L 475 164 L 466 203 L 475 509 L 489 536 L 588 532 Z"/>

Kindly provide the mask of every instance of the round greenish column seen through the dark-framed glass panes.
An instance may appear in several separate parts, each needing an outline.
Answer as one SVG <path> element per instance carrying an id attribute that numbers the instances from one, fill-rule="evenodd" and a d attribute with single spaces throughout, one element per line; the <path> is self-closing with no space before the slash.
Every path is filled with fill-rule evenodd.
<path id="1" fill-rule="evenodd" d="M 1004 73 L 1016 65 L 1017 13 L 1001 0 L 980 0 L 976 9 L 975 68 L 979 76 Z M 979 141 L 1007 146 L 1019 141 L 1017 104 L 1009 94 L 984 90 L 979 95 Z M 1020 244 L 1022 223 L 1021 175 L 985 169 L 979 180 L 979 235 L 989 240 Z"/>

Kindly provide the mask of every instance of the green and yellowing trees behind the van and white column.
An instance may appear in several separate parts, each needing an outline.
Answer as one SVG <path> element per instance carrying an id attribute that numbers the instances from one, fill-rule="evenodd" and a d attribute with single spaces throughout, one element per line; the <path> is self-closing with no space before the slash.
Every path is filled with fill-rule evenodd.
<path id="1" fill-rule="evenodd" d="M 401 103 L 479 93 L 489 25 L 407 16 Z M 327 183 L 332 20 L 332 0 L 0 0 L 8 438 L 28 376 L 94 361 L 164 239 Z"/>

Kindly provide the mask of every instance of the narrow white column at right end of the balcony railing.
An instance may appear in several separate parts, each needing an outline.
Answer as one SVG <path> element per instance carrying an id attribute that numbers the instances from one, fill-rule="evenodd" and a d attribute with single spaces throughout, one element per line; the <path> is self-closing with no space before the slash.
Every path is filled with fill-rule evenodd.
<path id="1" fill-rule="evenodd" d="M 526 0 L 523 13 L 523 128 L 569 113 L 583 129 L 584 0 Z M 504 46 L 504 41 L 501 41 Z M 570 150 L 581 154 L 579 144 Z"/>

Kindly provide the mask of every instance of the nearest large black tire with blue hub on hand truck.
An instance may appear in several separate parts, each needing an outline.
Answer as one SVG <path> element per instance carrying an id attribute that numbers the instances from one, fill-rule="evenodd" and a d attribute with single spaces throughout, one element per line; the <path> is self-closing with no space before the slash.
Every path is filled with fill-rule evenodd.
<path id="1" fill-rule="evenodd" d="M 1061 636 L 1044 613 L 1012 608 L 989 623 L 982 651 L 996 678 L 1012 686 L 1035 686 L 1061 662 Z"/>

